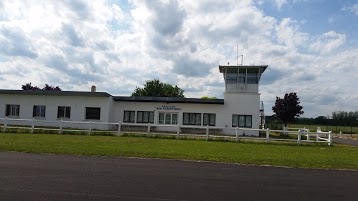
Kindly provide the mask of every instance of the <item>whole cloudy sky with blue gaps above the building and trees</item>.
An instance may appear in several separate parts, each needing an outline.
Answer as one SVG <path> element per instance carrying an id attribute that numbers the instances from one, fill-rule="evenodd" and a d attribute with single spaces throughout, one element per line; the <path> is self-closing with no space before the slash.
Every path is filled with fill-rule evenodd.
<path id="1" fill-rule="evenodd" d="M 218 66 L 237 55 L 268 65 L 267 115 L 290 92 L 304 117 L 358 110 L 358 0 L 0 1 L 0 89 L 130 96 L 159 79 L 223 98 Z"/>

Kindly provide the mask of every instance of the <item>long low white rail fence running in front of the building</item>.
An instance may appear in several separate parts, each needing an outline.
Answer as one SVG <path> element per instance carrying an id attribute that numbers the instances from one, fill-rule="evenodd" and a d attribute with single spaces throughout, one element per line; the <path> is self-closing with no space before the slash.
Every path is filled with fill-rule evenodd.
<path id="1" fill-rule="evenodd" d="M 123 128 L 128 127 L 132 129 L 127 129 L 124 131 Z M 153 131 L 152 128 L 156 128 Z M 158 129 L 161 128 L 161 129 Z M 226 128 L 226 127 L 214 127 L 214 126 L 187 126 L 187 125 L 163 125 L 163 124 L 134 124 L 134 123 L 110 123 L 110 122 L 97 122 L 97 121 L 47 121 L 47 120 L 37 120 L 37 119 L 19 119 L 19 118 L 0 118 L 0 129 L 2 132 L 7 132 L 10 129 L 23 129 L 27 130 L 30 133 L 36 133 L 39 131 L 52 131 L 55 133 L 62 134 L 64 132 L 81 132 L 88 135 L 96 133 L 109 133 L 112 135 L 121 135 L 124 133 L 140 133 L 140 134 L 160 134 L 160 135 L 171 135 L 176 136 L 177 138 L 181 136 L 192 136 L 192 137 L 203 137 L 206 140 L 223 138 L 223 139 L 232 139 L 232 140 L 262 140 L 266 142 L 270 141 L 293 141 L 297 143 L 302 142 L 321 142 L 327 143 L 328 145 L 332 144 L 332 132 L 322 132 L 317 130 L 317 132 L 310 132 L 308 129 L 298 129 L 298 131 L 288 131 L 288 130 L 270 130 L 267 129 L 251 129 L 251 128 Z M 183 132 L 185 129 L 192 129 L 191 132 Z M 197 130 L 195 130 L 197 129 Z M 232 135 L 223 135 L 218 130 L 231 130 Z M 194 130 L 194 132 L 193 132 Z M 161 132 L 158 132 L 161 131 Z M 201 131 L 195 133 L 195 131 Z M 264 133 L 264 137 L 252 137 L 245 136 L 245 133 L 256 132 Z M 285 136 L 288 135 L 297 135 L 295 138 L 279 138 L 271 135 L 272 133 L 284 133 Z M 280 135 L 281 136 L 281 135 Z"/>

